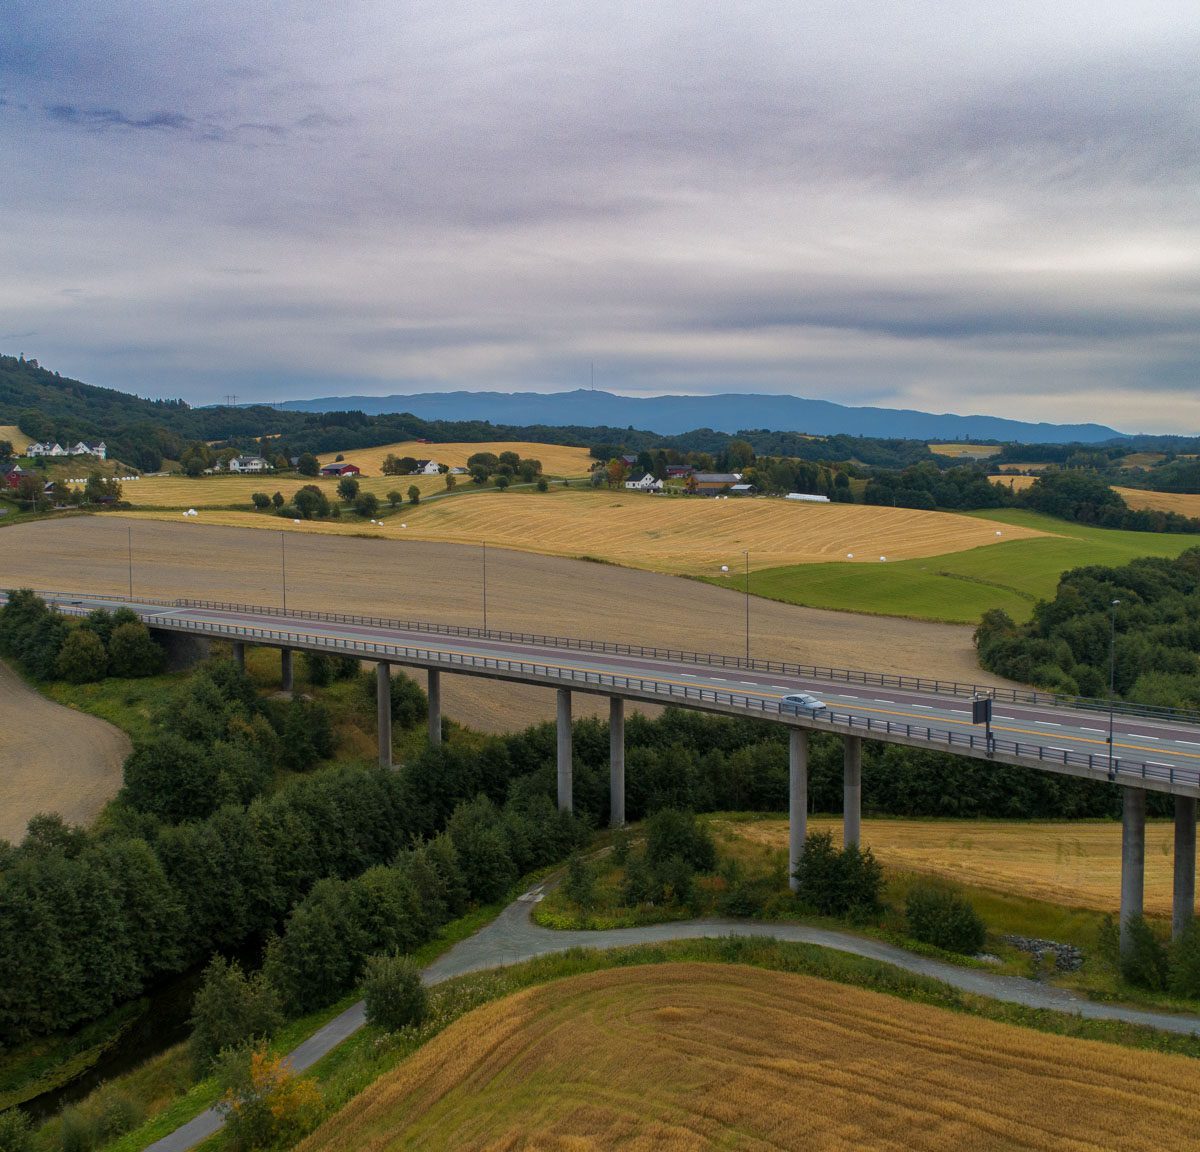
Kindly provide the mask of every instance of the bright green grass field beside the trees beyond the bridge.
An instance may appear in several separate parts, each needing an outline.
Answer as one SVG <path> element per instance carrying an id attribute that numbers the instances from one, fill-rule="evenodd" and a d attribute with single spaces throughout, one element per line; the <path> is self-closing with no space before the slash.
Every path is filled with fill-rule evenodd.
<path id="1" fill-rule="evenodd" d="M 974 515 L 1056 535 L 894 564 L 764 569 L 752 574 L 750 590 L 770 600 L 844 612 L 974 624 L 988 608 L 1003 608 L 1025 620 L 1037 600 L 1054 596 L 1058 577 L 1069 569 L 1120 565 L 1140 556 L 1174 557 L 1200 546 L 1194 535 L 1090 528 L 1012 509 Z"/>

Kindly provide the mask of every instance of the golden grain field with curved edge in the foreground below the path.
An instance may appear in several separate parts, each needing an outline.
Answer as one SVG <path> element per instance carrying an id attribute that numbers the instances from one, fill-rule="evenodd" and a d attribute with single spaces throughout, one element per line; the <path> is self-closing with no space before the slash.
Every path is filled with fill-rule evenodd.
<path id="1" fill-rule="evenodd" d="M 1198 1067 L 809 976 L 618 968 L 456 1021 L 302 1152 L 1195 1147 Z"/>

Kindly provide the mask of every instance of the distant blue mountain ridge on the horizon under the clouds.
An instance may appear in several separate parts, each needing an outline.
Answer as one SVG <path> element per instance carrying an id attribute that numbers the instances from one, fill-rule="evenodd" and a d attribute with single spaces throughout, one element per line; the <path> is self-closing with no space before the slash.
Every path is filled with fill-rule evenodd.
<path id="1" fill-rule="evenodd" d="M 811 436 L 870 436 L 913 440 L 1004 440 L 1020 444 L 1098 444 L 1123 439 L 1103 424 L 1033 424 L 1003 416 L 960 416 L 910 408 L 852 408 L 828 400 L 724 392 L 715 396 L 618 396 L 568 392 L 419 392 L 409 396 L 325 396 L 289 400 L 293 412 L 368 414 L 407 412 L 425 420 L 488 420 L 512 425 L 610 425 L 677 436 L 694 428 L 739 432 L 769 428 Z"/>

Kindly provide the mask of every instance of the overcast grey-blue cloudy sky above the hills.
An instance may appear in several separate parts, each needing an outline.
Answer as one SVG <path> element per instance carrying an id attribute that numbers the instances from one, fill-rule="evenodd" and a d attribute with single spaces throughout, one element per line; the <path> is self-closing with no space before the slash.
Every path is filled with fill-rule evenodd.
<path id="1" fill-rule="evenodd" d="M 5 0 L 0 350 L 1200 432 L 1195 0 Z"/>

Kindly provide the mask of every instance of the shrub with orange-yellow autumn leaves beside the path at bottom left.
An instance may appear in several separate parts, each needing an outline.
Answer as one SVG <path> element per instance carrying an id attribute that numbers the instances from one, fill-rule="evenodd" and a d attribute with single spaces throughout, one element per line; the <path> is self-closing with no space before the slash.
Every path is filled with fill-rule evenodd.
<path id="1" fill-rule="evenodd" d="M 218 1073 L 224 1088 L 217 1111 L 234 1148 L 290 1146 L 320 1117 L 320 1092 L 265 1049 L 227 1052 Z"/>

